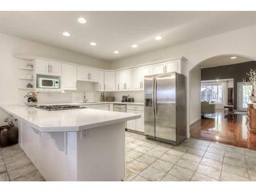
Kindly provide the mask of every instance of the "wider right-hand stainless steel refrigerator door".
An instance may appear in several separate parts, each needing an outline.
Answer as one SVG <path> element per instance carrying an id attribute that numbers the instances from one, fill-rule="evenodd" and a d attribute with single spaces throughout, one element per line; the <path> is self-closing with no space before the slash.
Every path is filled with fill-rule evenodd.
<path id="1" fill-rule="evenodd" d="M 156 137 L 176 141 L 176 73 L 156 75 L 155 83 Z"/>

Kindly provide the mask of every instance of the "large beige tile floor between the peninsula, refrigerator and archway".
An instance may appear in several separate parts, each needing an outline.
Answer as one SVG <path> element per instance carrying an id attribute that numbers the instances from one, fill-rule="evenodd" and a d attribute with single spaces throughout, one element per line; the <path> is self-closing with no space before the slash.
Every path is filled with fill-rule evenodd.
<path id="1" fill-rule="evenodd" d="M 186 139 L 174 146 L 125 132 L 124 181 L 256 181 L 256 151 Z"/>

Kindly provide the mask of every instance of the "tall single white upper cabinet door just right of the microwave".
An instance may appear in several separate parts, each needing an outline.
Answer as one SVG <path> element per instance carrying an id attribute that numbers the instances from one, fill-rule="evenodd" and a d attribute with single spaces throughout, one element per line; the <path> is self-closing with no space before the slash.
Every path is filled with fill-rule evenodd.
<path id="1" fill-rule="evenodd" d="M 69 64 L 62 64 L 61 87 L 64 90 L 76 90 L 77 67 Z"/>

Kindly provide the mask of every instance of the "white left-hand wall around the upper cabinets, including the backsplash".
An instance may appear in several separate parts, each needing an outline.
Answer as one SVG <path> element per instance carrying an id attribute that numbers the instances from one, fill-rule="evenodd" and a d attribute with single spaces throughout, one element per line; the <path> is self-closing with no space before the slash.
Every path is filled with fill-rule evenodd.
<path id="1" fill-rule="evenodd" d="M 26 101 L 24 95 L 28 91 L 17 89 L 17 68 L 20 60 L 14 58 L 12 56 L 14 54 L 64 60 L 101 69 L 110 68 L 109 62 L 97 58 L 0 33 L 0 103 L 23 103 Z M 83 90 L 88 93 L 88 97 L 92 100 L 99 100 L 100 93 L 94 92 L 93 83 L 78 81 L 77 88 L 77 91 L 66 91 L 66 94 L 39 93 L 38 101 L 41 103 L 78 101 L 78 99 L 82 99 Z M 3 124 L 2 119 L 5 115 L 6 113 L 0 110 L 0 125 Z"/>

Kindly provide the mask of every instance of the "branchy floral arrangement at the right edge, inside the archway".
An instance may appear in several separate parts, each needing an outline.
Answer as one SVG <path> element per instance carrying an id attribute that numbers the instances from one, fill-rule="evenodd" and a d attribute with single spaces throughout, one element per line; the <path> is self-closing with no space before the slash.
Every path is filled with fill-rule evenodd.
<path id="1" fill-rule="evenodd" d="M 252 89 L 246 89 L 246 93 L 250 95 L 250 100 L 256 102 L 255 89 L 256 89 L 256 69 L 250 69 L 249 73 L 246 73 L 247 77 L 243 78 L 246 86 L 251 86 Z"/>

